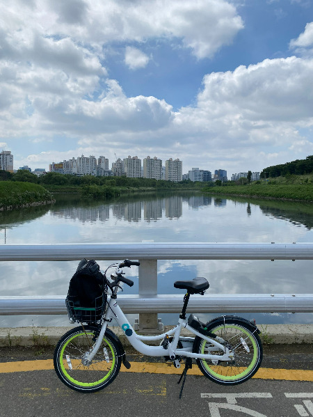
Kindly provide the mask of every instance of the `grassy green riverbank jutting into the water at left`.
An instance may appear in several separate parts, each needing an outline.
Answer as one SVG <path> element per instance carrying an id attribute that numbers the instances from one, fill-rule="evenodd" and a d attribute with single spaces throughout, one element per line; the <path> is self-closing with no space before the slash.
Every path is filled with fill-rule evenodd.
<path id="1" fill-rule="evenodd" d="M 52 194 L 39 184 L 0 182 L 0 211 L 54 203 Z"/>

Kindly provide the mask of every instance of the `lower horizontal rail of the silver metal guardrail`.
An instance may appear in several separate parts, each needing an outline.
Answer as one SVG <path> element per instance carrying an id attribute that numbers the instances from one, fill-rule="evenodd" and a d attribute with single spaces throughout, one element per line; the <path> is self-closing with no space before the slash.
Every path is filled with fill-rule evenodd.
<path id="1" fill-rule="evenodd" d="M 119 295 L 124 313 L 180 313 L 183 295 Z M 192 313 L 313 313 L 313 294 L 218 294 L 193 295 Z M 67 314 L 65 296 L 0 297 L 0 315 Z"/>

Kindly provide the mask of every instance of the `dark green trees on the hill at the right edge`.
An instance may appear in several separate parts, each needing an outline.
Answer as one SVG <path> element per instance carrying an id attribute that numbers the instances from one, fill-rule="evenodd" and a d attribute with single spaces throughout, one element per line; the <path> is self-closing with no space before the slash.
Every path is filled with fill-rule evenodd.
<path id="1" fill-rule="evenodd" d="M 313 172 L 313 155 L 305 159 L 296 159 L 296 161 L 287 162 L 286 164 L 273 165 L 264 168 L 260 173 L 261 178 L 285 177 L 286 175 L 304 175 Z"/>

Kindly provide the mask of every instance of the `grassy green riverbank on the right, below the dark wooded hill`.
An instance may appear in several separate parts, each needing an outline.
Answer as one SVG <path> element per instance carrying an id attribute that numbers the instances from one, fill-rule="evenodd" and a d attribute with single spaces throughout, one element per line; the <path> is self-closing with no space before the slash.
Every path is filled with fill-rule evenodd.
<path id="1" fill-rule="evenodd" d="M 307 203 L 313 202 L 312 184 L 225 185 L 220 187 L 207 187 L 202 191 L 206 194 L 219 194 L 225 196 L 305 201 Z"/>

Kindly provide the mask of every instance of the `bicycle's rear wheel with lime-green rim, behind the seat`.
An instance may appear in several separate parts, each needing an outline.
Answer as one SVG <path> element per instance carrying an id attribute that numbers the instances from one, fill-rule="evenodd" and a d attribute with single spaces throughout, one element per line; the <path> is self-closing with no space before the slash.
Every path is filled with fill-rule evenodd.
<path id="1" fill-rule="evenodd" d="M 234 359 L 219 361 L 219 356 L 223 355 L 222 350 L 207 340 L 195 338 L 195 353 L 214 355 L 214 360 L 197 359 L 198 367 L 205 377 L 217 384 L 236 385 L 255 375 L 263 357 L 262 342 L 257 331 L 236 319 L 215 321 L 207 330 L 223 339 L 223 344 L 234 352 Z"/>

